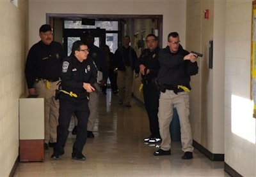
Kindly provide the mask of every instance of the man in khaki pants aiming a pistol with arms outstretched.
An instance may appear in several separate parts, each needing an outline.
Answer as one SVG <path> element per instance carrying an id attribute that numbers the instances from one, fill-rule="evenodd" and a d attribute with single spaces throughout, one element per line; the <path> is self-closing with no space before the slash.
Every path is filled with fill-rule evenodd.
<path id="1" fill-rule="evenodd" d="M 197 56 L 182 48 L 178 32 L 168 34 L 167 45 L 159 52 L 157 81 L 161 92 L 158 117 L 162 142 L 161 148 L 154 155 L 171 154 L 170 122 L 175 106 L 180 120 L 180 140 L 184 152 L 182 159 L 192 159 L 194 148 L 189 123 L 189 82 L 190 76 L 198 73 Z"/>

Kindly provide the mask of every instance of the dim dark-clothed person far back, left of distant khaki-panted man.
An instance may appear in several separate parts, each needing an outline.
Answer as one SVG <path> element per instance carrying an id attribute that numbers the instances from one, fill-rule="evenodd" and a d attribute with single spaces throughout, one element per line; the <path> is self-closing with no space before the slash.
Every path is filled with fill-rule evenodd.
<path id="1" fill-rule="evenodd" d="M 118 89 L 116 85 L 117 73 L 114 71 L 114 67 L 113 67 L 114 53 L 110 52 L 108 45 L 102 46 L 102 50 L 104 50 L 104 52 L 106 53 L 106 58 L 108 61 L 108 68 L 109 68 L 108 77 L 111 84 L 111 90 L 113 94 L 116 94 L 118 93 Z M 106 94 L 106 89 L 107 89 L 107 86 L 102 87 L 102 92 L 104 92 L 105 94 Z"/>

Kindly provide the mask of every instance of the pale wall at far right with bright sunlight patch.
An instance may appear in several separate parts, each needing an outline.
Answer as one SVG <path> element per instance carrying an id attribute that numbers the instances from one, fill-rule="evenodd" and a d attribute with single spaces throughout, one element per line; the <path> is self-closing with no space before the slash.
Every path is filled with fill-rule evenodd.
<path id="1" fill-rule="evenodd" d="M 225 36 L 225 163 L 256 176 L 256 123 L 250 99 L 252 1 L 227 1 Z"/>

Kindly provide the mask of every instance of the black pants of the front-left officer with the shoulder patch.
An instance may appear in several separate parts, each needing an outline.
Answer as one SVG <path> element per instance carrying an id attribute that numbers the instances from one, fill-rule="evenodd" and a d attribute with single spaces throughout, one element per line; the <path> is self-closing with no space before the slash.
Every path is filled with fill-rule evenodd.
<path id="1" fill-rule="evenodd" d="M 67 99 L 60 99 L 60 117 L 59 125 L 57 127 L 57 144 L 54 147 L 54 152 L 63 154 L 64 147 L 68 138 L 68 127 L 72 114 L 77 117 L 77 135 L 76 141 L 73 145 L 74 153 L 81 153 L 86 143 L 87 138 L 87 122 L 90 115 L 88 108 L 88 100 L 84 98 L 81 101 L 70 101 Z"/>

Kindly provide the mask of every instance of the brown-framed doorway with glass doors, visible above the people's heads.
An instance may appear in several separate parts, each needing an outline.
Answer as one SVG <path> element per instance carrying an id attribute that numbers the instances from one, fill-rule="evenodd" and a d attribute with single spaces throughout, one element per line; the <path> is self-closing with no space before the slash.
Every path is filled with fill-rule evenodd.
<path id="1" fill-rule="evenodd" d="M 163 15 L 76 15 L 76 14 L 47 14 L 47 24 L 51 24 L 54 28 L 54 40 L 63 43 L 66 51 L 69 51 L 68 45 L 72 43 L 72 40 L 80 39 L 81 34 L 88 30 L 99 32 L 97 29 L 97 22 L 108 22 L 115 29 L 105 29 L 105 35 L 100 34 L 95 38 L 95 41 L 99 41 L 99 45 L 104 43 L 109 45 L 111 52 L 115 53 L 118 46 L 122 45 L 122 38 L 125 35 L 131 37 L 131 46 L 136 50 L 137 54 L 140 55 L 143 47 L 141 47 L 141 42 L 145 43 L 145 36 L 149 33 L 154 33 L 158 36 L 159 47 L 162 44 L 162 34 L 163 34 Z M 86 29 L 81 29 L 77 27 L 77 22 L 82 23 L 83 19 L 89 19 L 89 22 L 94 21 L 95 25 L 90 25 Z M 66 29 L 66 21 L 76 22 L 75 26 L 71 29 Z M 111 23 L 110 23 L 111 22 Z M 99 27 L 98 27 L 99 28 Z M 97 34 L 98 35 L 98 34 Z M 68 38 L 71 40 L 68 42 Z M 104 40 L 105 41 L 102 41 Z M 142 45 L 145 46 L 145 45 Z M 68 52 L 67 52 L 68 54 Z"/>

